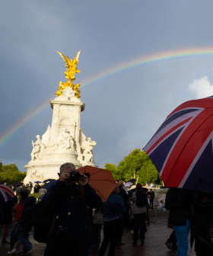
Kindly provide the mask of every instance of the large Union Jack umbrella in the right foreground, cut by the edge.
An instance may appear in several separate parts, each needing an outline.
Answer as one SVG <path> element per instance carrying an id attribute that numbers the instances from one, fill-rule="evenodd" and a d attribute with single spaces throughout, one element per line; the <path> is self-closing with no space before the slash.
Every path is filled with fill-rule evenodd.
<path id="1" fill-rule="evenodd" d="M 186 101 L 167 117 L 144 150 L 165 187 L 195 189 L 213 181 L 213 96 Z"/>

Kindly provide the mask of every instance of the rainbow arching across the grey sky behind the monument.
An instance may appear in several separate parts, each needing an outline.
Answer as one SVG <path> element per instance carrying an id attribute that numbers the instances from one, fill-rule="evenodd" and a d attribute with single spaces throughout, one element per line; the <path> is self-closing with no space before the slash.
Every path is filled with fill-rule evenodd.
<path id="1" fill-rule="evenodd" d="M 140 56 L 136 59 L 131 59 L 127 62 L 119 63 L 116 66 L 110 66 L 109 69 L 104 69 L 101 72 L 85 78 L 80 82 L 80 85 L 81 88 L 84 88 L 88 85 L 94 84 L 95 82 L 110 78 L 113 75 L 119 75 L 122 72 L 127 72 L 135 68 L 151 66 L 153 64 L 165 61 L 192 58 L 193 56 L 211 55 L 213 56 L 213 46 L 179 48 L 175 50 L 167 50 L 160 53 L 152 53 L 147 56 Z M 46 107 L 49 107 L 49 99 L 43 101 L 42 104 L 28 111 L 26 114 L 24 114 L 23 117 L 21 117 L 20 120 L 17 120 L 17 122 L 15 122 L 12 126 L 8 127 L 8 130 L 5 130 L 4 133 L 0 134 L 0 147 L 3 146 L 8 141 L 8 139 L 11 139 L 11 137 L 14 136 L 15 133 L 21 130 L 22 126 L 30 122 L 33 117 L 36 117 L 37 114 L 46 109 Z"/>

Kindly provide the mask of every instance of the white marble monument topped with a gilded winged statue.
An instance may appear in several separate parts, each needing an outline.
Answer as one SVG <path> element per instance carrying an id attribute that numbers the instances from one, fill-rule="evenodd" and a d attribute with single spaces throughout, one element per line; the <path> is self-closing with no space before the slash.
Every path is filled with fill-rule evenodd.
<path id="1" fill-rule="evenodd" d="M 24 166 L 27 168 L 25 184 L 58 178 L 59 167 L 65 162 L 72 162 L 76 168 L 96 166 L 92 152 L 96 142 L 86 138 L 80 128 L 80 114 L 85 104 L 79 99 L 80 85 L 73 84 L 75 74 L 80 72 L 77 69 L 80 53 L 73 60 L 59 53 L 66 63 L 65 78 L 68 81 L 59 82 L 57 97 L 49 101 L 53 110 L 52 126 L 47 127 L 43 136 L 37 135 L 36 141 L 32 141 L 31 160 Z"/>

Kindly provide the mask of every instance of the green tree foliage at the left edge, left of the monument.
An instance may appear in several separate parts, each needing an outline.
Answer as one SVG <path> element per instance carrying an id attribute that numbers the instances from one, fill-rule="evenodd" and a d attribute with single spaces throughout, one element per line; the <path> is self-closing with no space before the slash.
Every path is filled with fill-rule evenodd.
<path id="1" fill-rule="evenodd" d="M 0 162 L 0 183 L 14 184 L 15 182 L 21 182 L 26 175 L 27 172 L 19 171 L 16 165 L 2 165 L 2 162 Z"/>

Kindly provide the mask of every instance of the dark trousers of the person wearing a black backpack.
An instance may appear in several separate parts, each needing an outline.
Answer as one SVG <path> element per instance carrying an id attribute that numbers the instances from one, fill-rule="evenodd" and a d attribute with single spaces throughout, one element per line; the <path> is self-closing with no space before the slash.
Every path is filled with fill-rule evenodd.
<path id="1" fill-rule="evenodd" d="M 138 227 L 140 226 L 140 236 L 139 239 L 143 241 L 145 239 L 145 229 L 146 229 L 146 222 L 145 222 L 145 213 L 140 214 L 133 214 L 133 240 L 138 240 Z"/>

